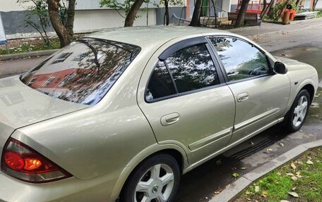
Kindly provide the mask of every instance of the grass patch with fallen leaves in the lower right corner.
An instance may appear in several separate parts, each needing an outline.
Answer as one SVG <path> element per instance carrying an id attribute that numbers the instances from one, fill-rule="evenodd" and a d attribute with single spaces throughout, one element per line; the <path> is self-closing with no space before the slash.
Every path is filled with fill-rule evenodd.
<path id="1" fill-rule="evenodd" d="M 322 201 L 322 148 L 308 151 L 291 163 L 259 179 L 235 201 Z"/>

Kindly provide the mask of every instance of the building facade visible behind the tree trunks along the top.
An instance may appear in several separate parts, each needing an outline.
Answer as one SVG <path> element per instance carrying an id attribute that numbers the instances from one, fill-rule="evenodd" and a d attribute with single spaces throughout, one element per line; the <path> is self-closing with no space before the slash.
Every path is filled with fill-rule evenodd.
<path id="1" fill-rule="evenodd" d="M 61 0 L 68 1 L 68 0 Z M 124 1 L 124 0 L 119 0 Z M 196 0 L 179 0 L 181 4 L 177 6 L 169 5 L 170 23 L 179 23 L 179 19 L 189 20 L 192 18 L 193 8 Z M 215 2 L 215 7 L 213 6 Z M 239 1 L 241 0 L 203 0 L 201 16 L 227 18 L 228 12 L 237 11 Z M 251 0 L 250 5 L 263 0 Z M 314 0 L 302 0 L 302 8 L 311 8 Z M 268 0 L 270 2 L 270 0 Z M 0 13 L 4 23 L 6 34 L 35 33 L 33 27 L 26 26 L 24 23 L 26 9 L 32 4 L 20 5 L 16 0 L 4 0 L 1 2 Z M 67 4 L 66 4 L 67 5 Z M 318 1 L 316 8 L 322 8 L 322 0 Z M 74 31 L 88 32 L 101 30 L 109 27 L 123 27 L 124 11 L 115 11 L 114 9 L 101 7 L 100 0 L 76 0 Z M 160 4 L 160 0 L 151 0 L 149 4 L 143 3 L 140 16 L 134 21 L 134 26 L 139 25 L 162 25 L 165 15 L 165 8 Z M 37 20 L 37 18 L 35 18 Z M 180 20 L 180 22 L 183 22 Z M 53 32 L 53 28 L 48 28 Z"/>

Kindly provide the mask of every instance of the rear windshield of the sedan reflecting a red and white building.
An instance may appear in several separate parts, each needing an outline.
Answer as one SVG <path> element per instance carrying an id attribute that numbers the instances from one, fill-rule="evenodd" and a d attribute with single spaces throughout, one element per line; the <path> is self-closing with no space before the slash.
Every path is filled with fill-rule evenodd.
<path id="1" fill-rule="evenodd" d="M 95 105 L 139 51 L 120 42 L 80 39 L 25 73 L 21 81 L 58 99 Z"/>

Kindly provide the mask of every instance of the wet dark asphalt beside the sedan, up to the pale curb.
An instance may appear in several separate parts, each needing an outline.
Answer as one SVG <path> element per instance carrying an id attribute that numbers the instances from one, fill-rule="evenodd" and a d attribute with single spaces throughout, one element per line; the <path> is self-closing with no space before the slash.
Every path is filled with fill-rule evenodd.
<path id="1" fill-rule="evenodd" d="M 299 46 L 272 53 L 313 65 L 318 70 L 320 87 L 322 86 L 322 47 Z M 308 118 L 299 132 L 287 134 L 282 126 L 276 125 L 204 163 L 182 176 L 175 201 L 209 201 L 212 196 L 234 182 L 233 173 L 237 172 L 242 176 L 299 144 L 322 139 L 321 131 L 322 88 L 319 88 Z"/>

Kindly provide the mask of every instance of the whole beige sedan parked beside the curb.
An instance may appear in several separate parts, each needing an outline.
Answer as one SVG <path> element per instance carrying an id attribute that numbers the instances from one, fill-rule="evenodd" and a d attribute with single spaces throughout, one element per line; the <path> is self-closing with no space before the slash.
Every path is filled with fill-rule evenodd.
<path id="1" fill-rule="evenodd" d="M 174 201 L 180 176 L 283 122 L 310 65 L 195 27 L 97 32 L 0 80 L 0 201 Z"/>

